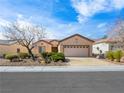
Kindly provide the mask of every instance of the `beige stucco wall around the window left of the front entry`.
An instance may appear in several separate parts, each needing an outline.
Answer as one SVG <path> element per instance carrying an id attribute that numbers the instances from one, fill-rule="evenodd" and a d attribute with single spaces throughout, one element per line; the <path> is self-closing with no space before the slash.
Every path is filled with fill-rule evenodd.
<path id="1" fill-rule="evenodd" d="M 44 41 L 39 41 L 35 43 L 35 48 L 33 49 L 34 54 L 39 54 L 39 47 L 44 47 L 45 46 L 45 51 L 46 52 L 51 52 L 52 51 L 52 45 L 44 42 Z"/>

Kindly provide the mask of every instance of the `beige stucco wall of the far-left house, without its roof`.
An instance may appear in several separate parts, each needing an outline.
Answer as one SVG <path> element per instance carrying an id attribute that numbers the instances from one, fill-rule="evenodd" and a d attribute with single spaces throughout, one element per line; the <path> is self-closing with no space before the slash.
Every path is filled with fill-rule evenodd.
<path id="1" fill-rule="evenodd" d="M 17 48 L 20 52 L 27 52 L 27 49 L 17 43 L 11 45 L 0 45 L 0 53 L 17 53 Z"/>

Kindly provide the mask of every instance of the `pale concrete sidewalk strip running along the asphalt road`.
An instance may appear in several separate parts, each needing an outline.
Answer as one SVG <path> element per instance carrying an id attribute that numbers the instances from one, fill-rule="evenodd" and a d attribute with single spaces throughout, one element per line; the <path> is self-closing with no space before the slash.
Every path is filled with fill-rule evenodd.
<path id="1" fill-rule="evenodd" d="M 99 72 L 124 71 L 124 66 L 1 66 L 0 72 Z"/>

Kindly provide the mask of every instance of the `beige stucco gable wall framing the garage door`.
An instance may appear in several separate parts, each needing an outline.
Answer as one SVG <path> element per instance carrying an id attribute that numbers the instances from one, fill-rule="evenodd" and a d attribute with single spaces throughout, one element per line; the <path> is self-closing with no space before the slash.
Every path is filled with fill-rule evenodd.
<path id="1" fill-rule="evenodd" d="M 63 51 L 63 45 L 89 45 L 90 46 L 90 56 L 92 56 L 92 41 L 89 41 L 85 38 L 82 38 L 80 36 L 73 36 L 71 38 L 68 38 L 59 44 L 59 52 L 64 52 Z"/>

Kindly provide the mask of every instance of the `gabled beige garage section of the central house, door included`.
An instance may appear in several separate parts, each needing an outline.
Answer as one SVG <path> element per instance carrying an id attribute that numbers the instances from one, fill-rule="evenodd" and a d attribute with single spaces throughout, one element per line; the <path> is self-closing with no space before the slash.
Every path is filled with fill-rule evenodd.
<path id="1" fill-rule="evenodd" d="M 67 57 L 89 57 L 92 56 L 93 43 L 93 40 L 75 34 L 60 41 L 59 52 Z"/>

